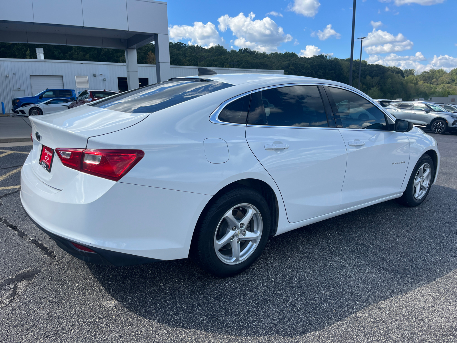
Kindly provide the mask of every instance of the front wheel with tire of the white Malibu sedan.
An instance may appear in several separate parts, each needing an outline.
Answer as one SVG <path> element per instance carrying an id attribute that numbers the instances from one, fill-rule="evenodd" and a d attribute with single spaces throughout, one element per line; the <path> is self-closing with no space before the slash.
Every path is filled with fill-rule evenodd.
<path id="1" fill-rule="evenodd" d="M 430 192 L 433 177 L 435 175 L 435 166 L 429 155 L 423 155 L 414 166 L 411 177 L 409 177 L 408 186 L 398 202 L 408 207 L 414 207 L 422 204 Z"/>

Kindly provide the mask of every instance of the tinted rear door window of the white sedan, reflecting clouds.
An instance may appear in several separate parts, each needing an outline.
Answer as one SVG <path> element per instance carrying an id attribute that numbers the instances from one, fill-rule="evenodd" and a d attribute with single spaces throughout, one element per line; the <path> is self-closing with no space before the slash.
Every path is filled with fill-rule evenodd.
<path id="1" fill-rule="evenodd" d="M 254 93 L 248 123 L 329 127 L 317 86 L 288 86 Z"/>

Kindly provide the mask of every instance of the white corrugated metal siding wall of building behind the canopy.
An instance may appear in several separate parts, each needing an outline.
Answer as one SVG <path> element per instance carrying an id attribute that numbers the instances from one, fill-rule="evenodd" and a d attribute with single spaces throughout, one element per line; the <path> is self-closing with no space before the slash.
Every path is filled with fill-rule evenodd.
<path id="1" fill-rule="evenodd" d="M 197 75 L 197 67 L 172 65 L 171 77 Z M 238 68 L 210 68 L 219 74 L 257 73 L 284 74 L 284 70 L 257 70 Z M 13 75 L 14 73 L 14 75 Z M 26 96 L 33 96 L 30 75 L 62 75 L 64 88 L 74 89 L 76 95 L 84 91 L 76 88 L 75 75 L 87 75 L 90 89 L 118 91 L 117 78 L 127 77 L 125 63 L 80 62 L 38 59 L 0 59 L 0 101 L 5 102 L 7 112 L 11 111 L 13 89 L 23 89 Z M 97 76 L 94 77 L 93 74 Z M 100 75 L 102 74 L 102 75 Z M 9 77 L 6 77 L 9 75 Z M 147 77 L 149 84 L 156 82 L 155 64 L 138 64 L 138 77 Z M 106 81 L 103 81 L 106 78 Z"/>

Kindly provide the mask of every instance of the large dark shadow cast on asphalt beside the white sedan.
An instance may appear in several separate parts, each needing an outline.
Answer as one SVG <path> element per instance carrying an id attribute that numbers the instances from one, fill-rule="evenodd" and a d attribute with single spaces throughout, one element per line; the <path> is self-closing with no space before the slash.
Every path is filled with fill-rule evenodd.
<path id="1" fill-rule="evenodd" d="M 297 336 L 456 269 L 457 220 L 449 212 L 456 200 L 456 189 L 434 185 L 415 208 L 393 200 L 293 230 L 226 279 L 190 260 L 87 266 L 112 297 L 149 320 L 238 336 Z"/>

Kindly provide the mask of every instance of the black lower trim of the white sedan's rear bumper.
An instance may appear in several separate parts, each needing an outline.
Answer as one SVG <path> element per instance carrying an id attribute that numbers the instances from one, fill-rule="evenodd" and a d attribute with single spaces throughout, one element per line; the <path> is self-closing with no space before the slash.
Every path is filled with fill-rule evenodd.
<path id="1" fill-rule="evenodd" d="M 22 208 L 24 209 L 23 206 L 22 206 Z M 42 226 L 38 225 L 37 222 L 35 220 L 33 220 L 32 217 L 30 217 L 30 215 L 27 213 L 27 211 L 25 209 L 24 209 L 24 212 L 27 214 L 27 216 L 30 218 L 30 220 L 32 220 L 33 224 L 37 225 L 37 227 L 40 230 L 42 230 L 49 237 L 51 237 L 53 239 L 53 241 L 55 241 L 62 250 L 68 252 L 70 255 L 73 255 L 74 257 L 79 258 L 80 260 L 83 260 L 84 262 L 121 267 L 121 266 L 130 266 L 133 264 L 143 264 L 143 263 L 152 263 L 152 262 L 163 261 L 163 260 L 159 260 L 159 259 L 155 259 L 155 258 L 131 255 L 131 254 L 123 253 L 123 252 L 115 252 L 112 250 L 91 247 L 88 245 L 84 245 L 84 246 L 92 249 L 93 251 L 95 251 L 95 253 L 82 251 L 82 250 L 76 248 L 73 244 L 71 244 L 72 241 L 70 241 L 64 237 L 55 235 L 52 232 L 49 232 L 48 230 L 44 229 Z M 74 242 L 74 243 L 81 244 L 79 242 Z"/>

